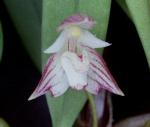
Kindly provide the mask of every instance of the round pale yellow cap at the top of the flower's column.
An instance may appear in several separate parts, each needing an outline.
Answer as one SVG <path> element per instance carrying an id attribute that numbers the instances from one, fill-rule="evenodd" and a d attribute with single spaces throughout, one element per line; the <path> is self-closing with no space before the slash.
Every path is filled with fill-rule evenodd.
<path id="1" fill-rule="evenodd" d="M 73 36 L 73 37 L 80 37 L 81 35 L 81 29 L 77 26 L 71 26 L 70 27 L 70 34 Z"/>

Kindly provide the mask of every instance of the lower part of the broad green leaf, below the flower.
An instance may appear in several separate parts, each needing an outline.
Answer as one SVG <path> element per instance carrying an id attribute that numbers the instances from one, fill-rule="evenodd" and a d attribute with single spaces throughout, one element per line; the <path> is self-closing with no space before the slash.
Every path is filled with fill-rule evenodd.
<path id="1" fill-rule="evenodd" d="M 86 94 L 68 90 L 63 96 L 54 98 L 47 94 L 53 127 L 72 127 L 76 117 L 86 102 Z"/>

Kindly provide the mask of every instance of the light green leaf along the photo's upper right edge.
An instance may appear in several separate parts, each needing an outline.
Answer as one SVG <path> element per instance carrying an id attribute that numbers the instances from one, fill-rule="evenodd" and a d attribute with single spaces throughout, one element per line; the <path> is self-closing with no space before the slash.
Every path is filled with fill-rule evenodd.
<path id="1" fill-rule="evenodd" d="M 119 1 L 119 0 L 118 0 Z M 141 39 L 147 61 L 150 66 L 150 1 L 149 0 L 125 0 L 125 9 L 130 13 Z"/>

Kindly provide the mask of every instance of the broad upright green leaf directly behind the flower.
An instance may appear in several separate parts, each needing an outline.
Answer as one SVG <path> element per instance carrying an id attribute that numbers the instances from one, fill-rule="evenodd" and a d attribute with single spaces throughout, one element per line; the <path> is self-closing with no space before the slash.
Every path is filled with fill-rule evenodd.
<path id="1" fill-rule="evenodd" d="M 110 5 L 111 0 L 43 0 L 42 50 L 56 40 L 56 29 L 61 21 L 75 12 L 92 16 L 97 21 L 92 32 L 105 39 Z M 43 65 L 48 57 L 43 54 Z M 84 92 L 71 89 L 61 97 L 53 98 L 47 95 L 53 127 L 72 127 L 86 99 Z"/>

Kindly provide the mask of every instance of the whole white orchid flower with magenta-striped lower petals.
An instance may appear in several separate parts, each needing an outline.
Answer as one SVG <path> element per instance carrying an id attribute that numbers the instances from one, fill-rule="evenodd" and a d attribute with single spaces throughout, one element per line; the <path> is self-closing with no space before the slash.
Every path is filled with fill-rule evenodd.
<path id="1" fill-rule="evenodd" d="M 92 94 L 105 89 L 123 95 L 102 56 L 95 50 L 110 45 L 89 32 L 95 23 L 89 16 L 75 14 L 60 24 L 57 29 L 61 32 L 59 37 L 44 51 L 51 56 L 29 100 L 47 92 L 57 97 L 69 87 Z"/>

